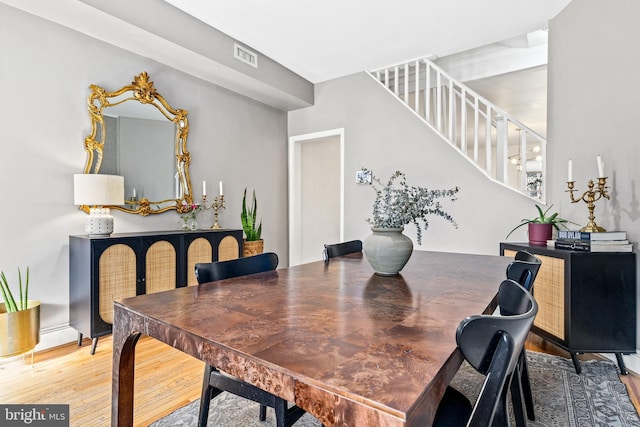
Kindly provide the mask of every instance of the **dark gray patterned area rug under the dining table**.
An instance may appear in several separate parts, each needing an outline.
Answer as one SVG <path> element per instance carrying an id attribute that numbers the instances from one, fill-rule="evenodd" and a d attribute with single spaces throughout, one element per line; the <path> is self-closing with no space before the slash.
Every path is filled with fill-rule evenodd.
<path id="1" fill-rule="evenodd" d="M 527 361 L 536 412 L 536 420 L 529 421 L 529 426 L 640 427 L 640 417 L 631 404 L 625 385 L 618 378 L 614 363 L 582 361 L 582 374 L 578 375 L 570 359 L 528 351 Z M 482 376 L 465 363 L 451 385 L 474 401 L 481 384 Z M 196 426 L 198 407 L 199 402 L 190 403 L 156 421 L 152 427 Z M 268 409 L 267 420 L 260 421 L 258 405 L 246 399 L 222 393 L 211 402 L 208 427 L 274 425 L 273 410 Z M 309 414 L 295 424 L 296 427 L 320 425 Z"/>

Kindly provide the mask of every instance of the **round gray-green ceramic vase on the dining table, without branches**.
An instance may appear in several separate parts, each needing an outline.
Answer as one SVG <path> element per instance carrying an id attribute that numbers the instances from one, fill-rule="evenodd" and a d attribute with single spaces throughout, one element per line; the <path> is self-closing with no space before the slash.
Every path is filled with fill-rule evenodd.
<path id="1" fill-rule="evenodd" d="M 381 276 L 394 276 L 402 270 L 413 252 L 413 242 L 404 228 L 375 228 L 362 242 L 364 256 Z"/>

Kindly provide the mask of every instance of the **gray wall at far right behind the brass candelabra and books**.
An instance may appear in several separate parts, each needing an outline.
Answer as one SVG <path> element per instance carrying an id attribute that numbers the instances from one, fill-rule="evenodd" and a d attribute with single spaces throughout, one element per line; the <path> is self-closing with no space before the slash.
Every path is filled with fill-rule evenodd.
<path id="1" fill-rule="evenodd" d="M 563 215 L 586 224 L 586 203 L 571 204 L 565 193 L 567 160 L 573 159 L 578 196 L 590 179 L 596 180 L 600 154 L 611 200 L 596 203 L 596 223 L 625 230 L 634 242 L 640 241 L 638 16 L 640 2 L 635 0 L 572 1 L 550 23 L 548 71 L 552 200 Z"/>

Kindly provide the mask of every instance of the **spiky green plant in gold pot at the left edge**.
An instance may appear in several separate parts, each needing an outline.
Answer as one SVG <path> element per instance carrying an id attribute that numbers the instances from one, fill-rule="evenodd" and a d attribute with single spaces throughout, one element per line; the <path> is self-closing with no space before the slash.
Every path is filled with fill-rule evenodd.
<path id="1" fill-rule="evenodd" d="M 29 267 L 25 285 L 18 269 L 18 299 L 9 287 L 4 272 L 0 272 L 0 357 L 15 356 L 32 350 L 40 342 L 40 301 L 29 300 Z"/>

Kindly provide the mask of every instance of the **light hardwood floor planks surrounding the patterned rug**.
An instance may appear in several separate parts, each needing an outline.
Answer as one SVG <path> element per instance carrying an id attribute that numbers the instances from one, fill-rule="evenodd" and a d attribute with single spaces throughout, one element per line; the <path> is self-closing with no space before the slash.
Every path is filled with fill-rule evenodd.
<path id="1" fill-rule="evenodd" d="M 96 354 L 90 341 L 37 353 L 31 358 L 0 361 L 0 403 L 69 404 L 71 426 L 109 426 L 111 420 L 111 337 L 100 338 Z M 567 357 L 553 344 L 531 336 L 527 348 Z M 583 355 L 581 359 L 598 357 Z M 152 338 L 136 349 L 135 425 L 147 426 L 189 402 L 198 400 L 204 365 Z M 640 376 L 621 376 L 636 410 L 640 409 Z"/>

